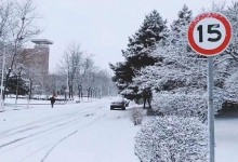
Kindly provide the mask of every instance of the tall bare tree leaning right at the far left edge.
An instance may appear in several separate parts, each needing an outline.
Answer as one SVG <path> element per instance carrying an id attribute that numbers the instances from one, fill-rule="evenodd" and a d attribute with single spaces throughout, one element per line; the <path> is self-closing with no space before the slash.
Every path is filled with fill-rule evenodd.
<path id="1" fill-rule="evenodd" d="M 41 32 L 37 23 L 36 6 L 32 0 L 24 1 L 1 1 L 3 8 L 0 8 L 0 26 L 1 26 L 1 42 L 8 51 L 6 70 L 5 70 L 5 86 L 8 86 L 8 80 L 11 76 L 15 58 L 18 54 L 21 46 Z M 4 32 L 4 35 L 2 35 Z"/>

